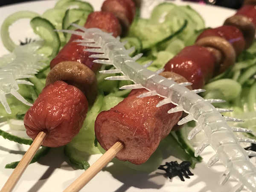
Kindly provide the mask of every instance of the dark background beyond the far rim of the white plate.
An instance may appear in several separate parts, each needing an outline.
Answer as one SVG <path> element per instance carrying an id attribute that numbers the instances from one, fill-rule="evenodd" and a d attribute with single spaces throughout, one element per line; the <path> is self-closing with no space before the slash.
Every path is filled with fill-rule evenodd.
<path id="1" fill-rule="evenodd" d="M 13 3 L 21 3 L 25 1 L 35 1 L 35 0 L 0 0 L 0 6 L 9 5 Z M 211 5 L 224 6 L 232 9 L 239 9 L 243 0 L 187 0 L 193 2 L 204 2 Z"/>

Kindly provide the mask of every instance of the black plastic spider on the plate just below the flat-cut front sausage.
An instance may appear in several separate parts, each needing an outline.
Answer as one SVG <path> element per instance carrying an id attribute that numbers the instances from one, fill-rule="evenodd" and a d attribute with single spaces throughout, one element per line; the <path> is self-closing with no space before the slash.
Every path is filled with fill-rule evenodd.
<path id="1" fill-rule="evenodd" d="M 164 166 L 167 167 L 164 168 Z M 191 162 L 189 161 L 183 161 L 180 164 L 177 161 L 171 161 L 170 163 L 166 162 L 165 165 L 160 165 L 158 169 L 165 170 L 170 179 L 172 179 L 172 177 L 179 176 L 180 180 L 185 181 L 183 175 L 186 178 L 190 178 L 189 175 L 194 175 L 190 172 L 189 166 L 191 166 Z"/>

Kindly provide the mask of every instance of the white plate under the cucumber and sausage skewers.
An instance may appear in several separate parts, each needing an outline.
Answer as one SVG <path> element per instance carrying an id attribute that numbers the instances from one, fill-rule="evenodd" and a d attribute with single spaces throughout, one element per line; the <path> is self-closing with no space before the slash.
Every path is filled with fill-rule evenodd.
<path id="1" fill-rule="evenodd" d="M 13 6 L 3 6 L 0 8 L 0 26 L 3 23 L 3 20 L 14 12 L 30 10 L 41 14 L 45 10 L 52 8 L 55 2 L 55 0 L 45 0 L 20 3 Z M 91 0 L 90 2 L 95 7 L 95 10 L 100 9 L 102 0 Z M 154 3 L 156 2 L 154 1 Z M 153 8 L 154 3 L 149 9 Z M 224 9 L 216 6 L 184 3 L 181 1 L 175 1 L 175 3 L 189 4 L 192 6 L 204 17 L 206 26 L 209 27 L 221 26 L 225 18 L 235 13 L 232 9 Z M 149 14 L 147 9 L 143 9 L 142 13 L 144 17 L 147 17 Z M 15 25 L 11 27 L 10 32 L 17 44 L 19 42 L 18 40 L 24 40 L 26 37 L 33 37 L 31 35 L 32 29 L 29 26 L 29 20 L 21 20 L 20 22 L 15 23 Z M 8 53 L 8 51 L 0 42 L 0 55 L 6 53 Z M 2 128 L 6 128 L 6 126 Z M 27 146 L 25 145 L 16 144 L 0 137 L 0 188 L 2 188 L 13 171 L 11 169 L 4 169 L 4 166 L 6 163 L 20 160 L 26 149 Z M 217 165 L 213 166 L 211 169 L 207 168 L 206 162 L 212 154 L 213 152 L 210 151 L 210 148 L 205 149 L 201 154 L 202 157 L 204 157 L 204 161 L 196 165 L 196 168 L 192 170 L 195 175 L 191 176 L 190 179 L 185 179 L 185 182 L 180 181 L 178 177 L 170 180 L 166 175 L 163 175 L 163 171 L 161 170 L 147 174 L 133 171 L 125 166 L 118 166 L 110 163 L 107 168 L 96 175 L 96 177 L 94 177 L 82 191 L 228 191 L 231 186 L 236 184 L 236 182 L 230 179 L 224 186 L 218 186 L 218 180 L 224 171 L 224 167 L 221 164 L 216 163 Z M 99 156 L 100 155 L 93 155 L 90 157 L 89 163 L 95 162 Z M 175 160 L 175 158 L 169 157 L 168 160 Z M 28 166 L 14 191 L 63 191 L 83 172 L 83 170 L 74 170 L 66 163 L 62 148 L 54 148 L 38 163 L 33 163 Z"/>

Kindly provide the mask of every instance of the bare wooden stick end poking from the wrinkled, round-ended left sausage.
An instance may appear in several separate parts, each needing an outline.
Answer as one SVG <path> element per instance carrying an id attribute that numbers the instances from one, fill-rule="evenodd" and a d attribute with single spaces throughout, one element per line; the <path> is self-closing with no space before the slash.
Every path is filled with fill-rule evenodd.
<path id="1" fill-rule="evenodd" d="M 35 156 L 35 153 L 38 151 L 38 148 L 43 143 L 47 133 L 41 131 L 33 141 L 33 143 L 30 145 L 29 149 L 26 151 L 22 159 L 20 160 L 20 163 L 17 165 L 17 167 L 12 172 L 12 175 L 9 177 L 9 179 L 6 181 L 5 185 L 3 186 L 1 192 L 11 192 L 15 185 L 17 184 L 18 180 L 20 179 L 21 175 L 31 162 L 32 158 Z"/>

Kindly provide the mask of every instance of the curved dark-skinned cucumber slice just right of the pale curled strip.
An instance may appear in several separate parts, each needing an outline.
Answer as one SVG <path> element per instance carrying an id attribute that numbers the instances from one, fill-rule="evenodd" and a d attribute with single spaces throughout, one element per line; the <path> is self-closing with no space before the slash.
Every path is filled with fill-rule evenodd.
<path id="1" fill-rule="evenodd" d="M 30 21 L 30 25 L 34 32 L 45 41 L 44 49 L 40 49 L 39 51 L 49 55 L 49 58 L 54 58 L 59 52 L 61 41 L 53 24 L 42 17 L 34 17 Z"/>

